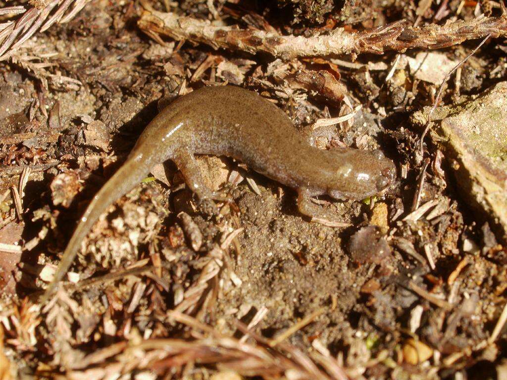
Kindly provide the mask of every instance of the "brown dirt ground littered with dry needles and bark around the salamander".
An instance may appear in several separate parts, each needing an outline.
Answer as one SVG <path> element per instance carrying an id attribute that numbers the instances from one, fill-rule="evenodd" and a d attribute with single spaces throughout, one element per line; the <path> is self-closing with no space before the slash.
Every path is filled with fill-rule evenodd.
<path id="1" fill-rule="evenodd" d="M 419 9 L 404 1 L 149 3 L 295 35 L 413 22 Z M 464 20 L 478 8 L 500 12 L 472 1 L 446 7 Z M 507 378 L 505 242 L 460 195 L 441 141 L 428 134 L 421 153 L 421 127 L 411 122 L 441 80 L 416 79 L 409 66 L 386 80 L 397 52 L 353 62 L 165 38 L 161 46 L 138 27 L 142 11 L 136 1 L 92 1 L 0 62 L 0 379 Z M 479 41 L 439 57 L 459 62 Z M 489 40 L 470 57 L 442 102 L 475 99 L 504 81 L 503 43 Z M 305 72 L 323 75 L 328 91 L 297 77 Z M 272 100 L 320 147 L 381 149 L 396 183 L 363 201 L 318 197 L 343 223 L 334 226 L 302 216 L 293 189 L 234 160 L 203 157 L 210 185 L 234 199 L 213 211 L 167 163 L 108 209 L 65 285 L 41 305 L 84 209 L 158 107 L 226 82 Z M 314 125 L 352 111 L 340 91 L 354 117 Z"/>

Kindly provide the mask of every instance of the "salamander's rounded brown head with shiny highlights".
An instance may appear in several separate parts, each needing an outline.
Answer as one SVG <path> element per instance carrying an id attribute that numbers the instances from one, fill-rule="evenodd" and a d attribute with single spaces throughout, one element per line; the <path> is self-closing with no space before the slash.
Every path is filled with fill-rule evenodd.
<path id="1" fill-rule="evenodd" d="M 333 185 L 327 191 L 335 199 L 374 196 L 390 187 L 396 178 L 394 163 L 378 149 L 348 149 L 337 155 L 335 167 Z"/>

